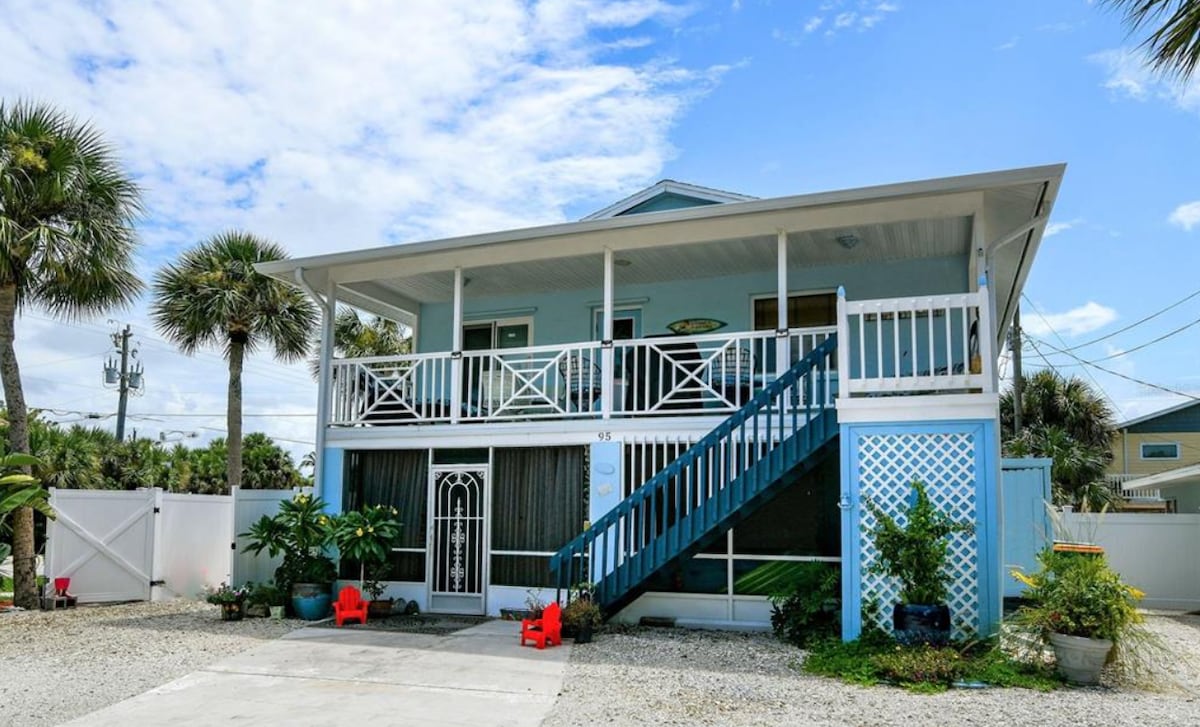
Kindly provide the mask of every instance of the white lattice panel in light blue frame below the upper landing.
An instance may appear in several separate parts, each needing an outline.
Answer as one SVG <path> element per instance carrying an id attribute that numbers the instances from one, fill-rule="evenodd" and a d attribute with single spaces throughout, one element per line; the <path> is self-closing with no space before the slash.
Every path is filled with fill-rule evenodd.
<path id="1" fill-rule="evenodd" d="M 871 572 L 872 501 L 904 523 L 901 511 L 920 481 L 934 504 L 972 534 L 950 537 L 950 620 L 956 637 L 996 631 L 1001 617 L 998 440 L 996 421 L 960 420 L 841 425 L 842 636 L 857 638 L 863 618 L 892 629 L 899 584 Z M 872 606 L 864 615 L 863 605 Z"/>

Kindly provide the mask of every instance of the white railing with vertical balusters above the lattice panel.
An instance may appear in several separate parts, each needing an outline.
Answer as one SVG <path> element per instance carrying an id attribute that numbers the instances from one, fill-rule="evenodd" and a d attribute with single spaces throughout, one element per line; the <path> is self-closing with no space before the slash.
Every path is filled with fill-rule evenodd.
<path id="1" fill-rule="evenodd" d="M 842 396 L 995 391 L 988 288 L 847 301 L 838 295 Z"/>

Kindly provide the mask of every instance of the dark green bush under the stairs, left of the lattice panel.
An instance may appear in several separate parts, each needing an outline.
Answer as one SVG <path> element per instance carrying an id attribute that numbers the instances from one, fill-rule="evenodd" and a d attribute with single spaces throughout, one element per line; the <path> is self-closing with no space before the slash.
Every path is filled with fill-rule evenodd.
<path id="1" fill-rule="evenodd" d="M 791 588 L 770 596 L 775 636 L 805 647 L 836 636 L 841 627 L 841 569 L 828 563 L 797 563 Z"/>

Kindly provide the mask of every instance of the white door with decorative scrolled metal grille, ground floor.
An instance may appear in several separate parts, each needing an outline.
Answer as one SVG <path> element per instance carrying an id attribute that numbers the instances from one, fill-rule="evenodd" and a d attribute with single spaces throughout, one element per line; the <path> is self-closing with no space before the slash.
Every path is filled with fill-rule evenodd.
<path id="1" fill-rule="evenodd" d="M 433 593 L 484 594 L 486 469 L 436 468 L 433 471 Z"/>

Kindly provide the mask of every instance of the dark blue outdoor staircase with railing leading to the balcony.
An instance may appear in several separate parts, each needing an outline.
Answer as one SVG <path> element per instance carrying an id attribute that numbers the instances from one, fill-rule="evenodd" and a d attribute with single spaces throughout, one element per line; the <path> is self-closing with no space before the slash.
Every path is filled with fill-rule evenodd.
<path id="1" fill-rule="evenodd" d="M 550 559 L 562 593 L 592 583 L 610 615 L 812 467 L 838 434 L 836 337 L 797 361 Z"/>

